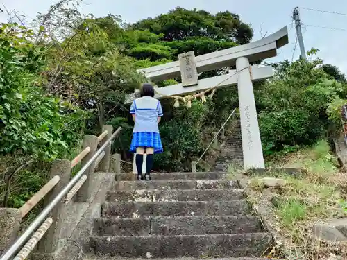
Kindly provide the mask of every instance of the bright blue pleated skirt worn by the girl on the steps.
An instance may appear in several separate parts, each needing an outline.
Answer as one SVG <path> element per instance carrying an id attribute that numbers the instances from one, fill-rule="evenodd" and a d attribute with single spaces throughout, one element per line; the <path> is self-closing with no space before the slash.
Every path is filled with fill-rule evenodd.
<path id="1" fill-rule="evenodd" d="M 162 153 L 162 140 L 158 132 L 134 132 L 130 152 L 136 153 L 137 147 L 152 147 L 154 153 Z"/>

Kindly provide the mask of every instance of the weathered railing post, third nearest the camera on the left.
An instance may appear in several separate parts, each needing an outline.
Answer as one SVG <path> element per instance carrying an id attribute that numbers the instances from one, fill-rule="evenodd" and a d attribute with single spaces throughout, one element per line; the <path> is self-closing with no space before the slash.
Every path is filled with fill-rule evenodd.
<path id="1" fill-rule="evenodd" d="M 83 167 L 92 157 L 95 155 L 98 148 L 98 137 L 95 135 L 85 135 L 83 137 L 83 149 L 90 147 L 90 152 L 82 159 L 81 166 Z M 85 171 L 87 175 L 87 180 L 83 183 L 81 189 L 78 190 L 76 194 L 76 202 L 87 202 L 92 195 L 92 182 L 93 175 L 95 171 L 95 161 L 90 164 L 90 166 Z"/>

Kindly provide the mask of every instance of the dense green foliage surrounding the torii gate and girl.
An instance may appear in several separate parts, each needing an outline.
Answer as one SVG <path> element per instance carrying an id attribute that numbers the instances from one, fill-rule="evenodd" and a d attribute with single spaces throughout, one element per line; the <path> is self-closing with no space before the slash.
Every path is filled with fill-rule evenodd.
<path id="1" fill-rule="evenodd" d="M 45 180 L 49 162 L 71 158 L 81 136 L 101 125 L 122 126 L 114 152 L 128 152 L 133 121 L 126 94 L 144 82 L 136 70 L 246 44 L 252 28 L 239 15 L 176 8 L 167 14 L 124 24 L 117 15 L 95 18 L 78 12 L 80 0 L 61 0 L 31 26 L 0 28 L 0 196 L 19 207 Z M 72 3 L 67 6 L 67 3 Z M 319 59 L 274 64 L 276 76 L 255 87 L 266 155 L 311 144 L 339 125 L 346 78 Z M 221 71 L 208 71 L 201 78 Z M 172 85 L 179 78 L 157 83 Z M 187 171 L 213 133 L 238 106 L 237 88 L 219 89 L 206 103 L 174 107 L 162 101 L 164 153 L 157 171 Z"/>

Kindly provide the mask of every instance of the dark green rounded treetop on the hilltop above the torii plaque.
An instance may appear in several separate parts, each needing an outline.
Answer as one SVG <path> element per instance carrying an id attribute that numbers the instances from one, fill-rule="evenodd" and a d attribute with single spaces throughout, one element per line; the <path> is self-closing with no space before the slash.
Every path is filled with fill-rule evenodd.
<path id="1" fill-rule="evenodd" d="M 167 14 L 148 18 L 132 25 L 138 30 L 149 30 L 167 42 L 185 40 L 189 37 L 210 37 L 214 40 L 230 40 L 238 44 L 250 42 L 253 31 L 231 12 L 216 15 L 205 10 L 176 8 Z"/>

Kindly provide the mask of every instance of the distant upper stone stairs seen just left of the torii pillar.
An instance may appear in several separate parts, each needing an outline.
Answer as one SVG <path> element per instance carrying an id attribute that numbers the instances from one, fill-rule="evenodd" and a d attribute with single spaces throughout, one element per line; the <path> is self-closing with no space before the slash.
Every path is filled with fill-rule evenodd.
<path id="1" fill-rule="evenodd" d="M 211 171 L 228 171 L 230 164 L 242 166 L 244 164 L 243 156 L 241 124 L 240 121 L 237 121 L 232 134 L 226 137 L 226 144 L 221 148 L 221 152 Z"/>

